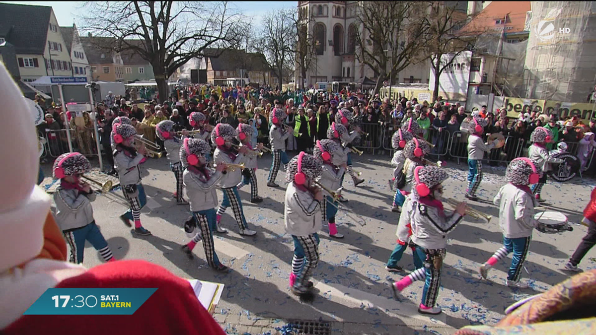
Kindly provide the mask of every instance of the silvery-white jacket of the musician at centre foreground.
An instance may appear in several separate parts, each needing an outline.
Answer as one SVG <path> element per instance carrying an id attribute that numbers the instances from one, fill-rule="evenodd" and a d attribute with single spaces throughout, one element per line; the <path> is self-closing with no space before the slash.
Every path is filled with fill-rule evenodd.
<path id="1" fill-rule="evenodd" d="M 294 236 L 308 236 L 322 228 L 321 204 L 312 194 L 293 182 L 285 190 L 285 231 Z"/>

